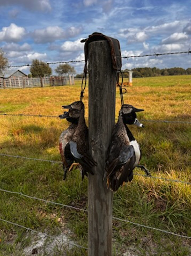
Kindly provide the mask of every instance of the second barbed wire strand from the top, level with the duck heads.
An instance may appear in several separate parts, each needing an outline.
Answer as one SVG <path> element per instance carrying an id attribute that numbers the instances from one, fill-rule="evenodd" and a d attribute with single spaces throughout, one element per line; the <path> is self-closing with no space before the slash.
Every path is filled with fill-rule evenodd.
<path id="1" fill-rule="evenodd" d="M 38 118 L 59 118 L 58 115 L 34 115 L 34 114 L 6 114 L 6 113 L 0 113 L 0 115 L 4 116 L 31 116 L 31 117 L 38 117 Z M 85 119 L 89 119 L 85 117 Z M 117 120 L 117 118 L 115 119 Z M 188 123 L 191 124 L 191 121 L 167 121 L 167 120 L 140 120 L 142 122 L 163 122 L 163 123 Z"/>

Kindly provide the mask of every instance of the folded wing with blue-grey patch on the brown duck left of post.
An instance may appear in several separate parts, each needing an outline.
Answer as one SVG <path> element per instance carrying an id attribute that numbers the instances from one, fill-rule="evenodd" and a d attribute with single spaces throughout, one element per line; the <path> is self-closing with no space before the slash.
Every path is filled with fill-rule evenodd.
<path id="1" fill-rule="evenodd" d="M 74 141 L 70 141 L 69 145 L 72 156 L 74 157 L 76 162 L 82 165 L 84 172 L 90 172 L 91 174 L 94 174 L 92 171 L 92 167 L 96 166 L 97 163 L 93 160 L 91 155 L 88 152 L 79 152 L 77 143 Z"/>

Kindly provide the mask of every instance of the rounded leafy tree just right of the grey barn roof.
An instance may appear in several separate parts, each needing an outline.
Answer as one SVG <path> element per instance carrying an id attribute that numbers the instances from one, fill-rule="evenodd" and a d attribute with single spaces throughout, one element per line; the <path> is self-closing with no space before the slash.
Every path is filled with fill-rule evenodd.
<path id="1" fill-rule="evenodd" d="M 33 60 L 30 68 L 32 77 L 43 77 L 52 74 L 52 68 L 43 61 Z"/>

